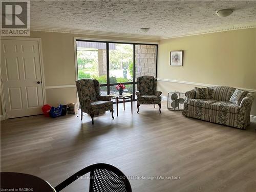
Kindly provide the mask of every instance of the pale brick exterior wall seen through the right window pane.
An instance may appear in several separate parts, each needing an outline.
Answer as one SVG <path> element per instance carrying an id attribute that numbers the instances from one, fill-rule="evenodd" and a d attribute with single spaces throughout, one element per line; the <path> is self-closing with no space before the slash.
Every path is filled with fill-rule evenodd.
<path id="1" fill-rule="evenodd" d="M 136 78 L 142 75 L 156 76 L 156 46 L 136 45 Z"/>

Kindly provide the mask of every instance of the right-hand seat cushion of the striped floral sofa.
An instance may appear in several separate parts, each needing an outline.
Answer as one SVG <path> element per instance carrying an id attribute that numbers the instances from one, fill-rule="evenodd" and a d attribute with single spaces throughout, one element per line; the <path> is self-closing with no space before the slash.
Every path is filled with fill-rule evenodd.
<path id="1" fill-rule="evenodd" d="M 226 102 L 226 101 L 217 101 L 211 104 L 212 110 L 229 112 L 229 113 L 239 113 L 239 105 L 236 103 Z"/>

